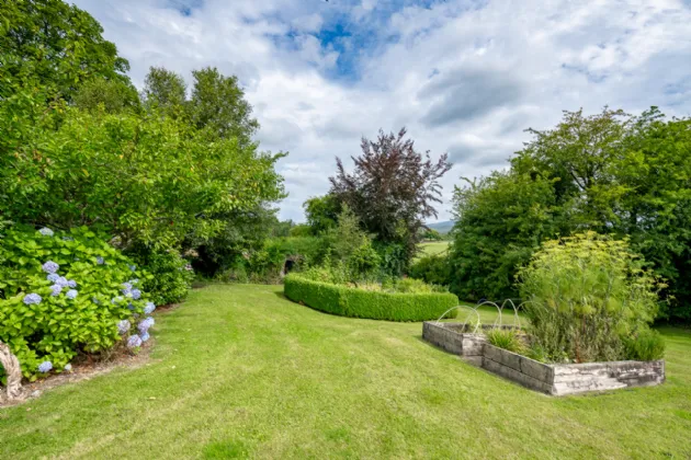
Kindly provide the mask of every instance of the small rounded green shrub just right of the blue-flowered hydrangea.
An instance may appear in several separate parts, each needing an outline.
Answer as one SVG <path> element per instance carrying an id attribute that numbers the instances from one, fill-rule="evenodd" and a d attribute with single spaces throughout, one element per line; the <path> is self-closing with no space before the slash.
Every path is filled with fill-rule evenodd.
<path id="1" fill-rule="evenodd" d="M 151 274 L 143 289 L 156 304 L 179 303 L 188 297 L 194 271 L 177 251 L 139 248 L 132 256 Z"/>

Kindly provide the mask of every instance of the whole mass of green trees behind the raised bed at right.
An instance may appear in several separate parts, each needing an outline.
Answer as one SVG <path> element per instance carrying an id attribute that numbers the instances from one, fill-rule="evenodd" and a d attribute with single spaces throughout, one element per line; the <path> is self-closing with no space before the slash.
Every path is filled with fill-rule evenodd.
<path id="1" fill-rule="evenodd" d="M 691 119 L 657 108 L 630 116 L 565 112 L 507 172 L 457 187 L 453 290 L 467 299 L 516 297 L 513 276 L 557 235 L 630 237 L 669 281 L 664 317 L 691 318 Z"/>

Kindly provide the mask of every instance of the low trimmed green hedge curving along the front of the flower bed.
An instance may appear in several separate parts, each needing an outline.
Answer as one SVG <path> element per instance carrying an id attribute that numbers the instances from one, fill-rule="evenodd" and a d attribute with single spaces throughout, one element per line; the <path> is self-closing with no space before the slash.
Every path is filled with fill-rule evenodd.
<path id="1" fill-rule="evenodd" d="M 437 320 L 446 310 L 458 304 L 458 298 L 450 292 L 378 292 L 311 281 L 298 275 L 285 277 L 284 292 L 294 302 L 303 302 L 316 310 L 372 320 Z M 456 311 L 453 310 L 449 317 L 455 317 Z"/>

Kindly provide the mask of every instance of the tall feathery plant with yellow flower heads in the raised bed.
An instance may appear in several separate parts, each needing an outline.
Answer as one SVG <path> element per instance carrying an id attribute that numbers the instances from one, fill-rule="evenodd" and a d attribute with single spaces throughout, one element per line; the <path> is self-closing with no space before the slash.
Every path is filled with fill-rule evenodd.
<path id="1" fill-rule="evenodd" d="M 637 359 L 666 287 L 626 240 L 593 232 L 547 241 L 518 274 L 534 345 L 553 361 Z"/>

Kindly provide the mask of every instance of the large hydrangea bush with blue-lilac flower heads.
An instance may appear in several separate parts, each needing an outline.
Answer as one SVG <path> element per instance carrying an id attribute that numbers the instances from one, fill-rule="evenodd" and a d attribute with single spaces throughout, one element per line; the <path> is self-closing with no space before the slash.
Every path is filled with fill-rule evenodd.
<path id="1" fill-rule="evenodd" d="M 30 380 L 71 369 L 78 353 L 148 340 L 156 306 L 140 279 L 151 275 L 88 228 L 8 230 L 0 261 L 0 341 Z"/>

